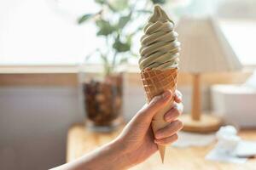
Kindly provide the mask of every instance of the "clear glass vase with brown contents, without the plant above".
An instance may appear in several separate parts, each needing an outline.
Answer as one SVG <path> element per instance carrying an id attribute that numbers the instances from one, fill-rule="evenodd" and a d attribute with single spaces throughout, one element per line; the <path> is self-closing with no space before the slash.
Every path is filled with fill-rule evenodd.
<path id="1" fill-rule="evenodd" d="M 92 131 L 109 132 L 122 122 L 123 74 L 83 71 L 79 77 L 85 126 Z"/>

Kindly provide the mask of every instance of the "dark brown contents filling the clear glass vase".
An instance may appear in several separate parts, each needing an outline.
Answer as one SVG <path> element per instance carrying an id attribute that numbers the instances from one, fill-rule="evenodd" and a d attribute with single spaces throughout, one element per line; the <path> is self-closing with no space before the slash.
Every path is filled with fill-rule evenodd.
<path id="1" fill-rule="evenodd" d="M 122 112 L 122 76 L 105 77 L 83 84 L 87 118 L 96 126 L 112 126 Z"/>

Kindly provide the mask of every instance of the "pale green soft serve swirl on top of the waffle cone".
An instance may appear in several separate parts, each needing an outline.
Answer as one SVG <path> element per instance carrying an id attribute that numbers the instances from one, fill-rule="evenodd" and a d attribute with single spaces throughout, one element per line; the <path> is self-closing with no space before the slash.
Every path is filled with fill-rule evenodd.
<path id="1" fill-rule="evenodd" d="M 173 29 L 173 21 L 156 5 L 141 38 L 139 66 L 142 71 L 145 68 L 161 71 L 177 68 L 180 42 L 177 42 L 177 32 Z"/>

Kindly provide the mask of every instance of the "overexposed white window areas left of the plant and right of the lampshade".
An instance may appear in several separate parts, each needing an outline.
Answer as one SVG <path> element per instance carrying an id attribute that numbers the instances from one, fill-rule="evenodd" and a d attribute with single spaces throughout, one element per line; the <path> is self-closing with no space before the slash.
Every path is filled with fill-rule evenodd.
<path id="1" fill-rule="evenodd" d="M 79 26 L 76 20 L 97 8 L 94 0 L 0 0 L 0 65 L 73 65 L 82 61 L 103 43 L 95 36 L 95 26 Z M 256 65 L 256 22 L 220 23 L 241 63 Z"/>

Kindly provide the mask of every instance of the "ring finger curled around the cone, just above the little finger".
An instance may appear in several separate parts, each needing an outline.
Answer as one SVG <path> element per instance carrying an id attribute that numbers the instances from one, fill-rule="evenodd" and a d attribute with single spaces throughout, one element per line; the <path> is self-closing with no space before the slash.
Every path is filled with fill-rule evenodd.
<path id="1" fill-rule="evenodd" d="M 180 122 L 178 120 L 170 123 L 164 128 L 161 128 L 154 134 L 155 139 L 166 139 L 168 137 L 171 137 L 173 134 L 177 133 L 177 131 L 181 130 L 183 128 L 183 122 Z"/>

